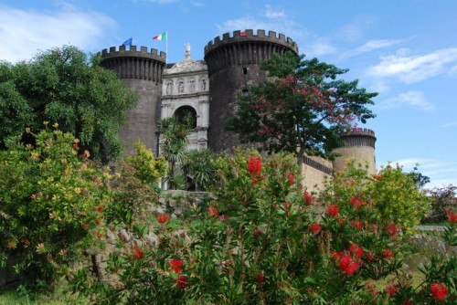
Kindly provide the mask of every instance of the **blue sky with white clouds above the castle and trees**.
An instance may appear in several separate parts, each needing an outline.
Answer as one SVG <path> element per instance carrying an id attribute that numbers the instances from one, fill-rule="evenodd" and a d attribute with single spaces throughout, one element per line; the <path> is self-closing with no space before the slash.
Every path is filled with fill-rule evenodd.
<path id="1" fill-rule="evenodd" d="M 0 2 L 0 60 L 74 45 L 95 53 L 133 37 L 168 33 L 167 61 L 203 59 L 208 41 L 265 29 L 292 37 L 301 54 L 338 68 L 377 91 L 377 167 L 416 163 L 428 188 L 457 185 L 457 1 L 453 0 L 37 0 Z"/>

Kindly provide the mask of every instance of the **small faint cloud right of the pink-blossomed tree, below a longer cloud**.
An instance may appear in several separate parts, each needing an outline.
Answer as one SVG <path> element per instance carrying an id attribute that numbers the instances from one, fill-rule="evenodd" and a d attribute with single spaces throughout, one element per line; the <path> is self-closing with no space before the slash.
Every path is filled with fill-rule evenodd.
<path id="1" fill-rule="evenodd" d="M 400 93 L 397 97 L 377 102 L 377 106 L 381 109 L 394 109 L 404 105 L 424 111 L 435 109 L 434 105 L 425 98 L 424 93 L 421 91 L 408 91 Z"/>

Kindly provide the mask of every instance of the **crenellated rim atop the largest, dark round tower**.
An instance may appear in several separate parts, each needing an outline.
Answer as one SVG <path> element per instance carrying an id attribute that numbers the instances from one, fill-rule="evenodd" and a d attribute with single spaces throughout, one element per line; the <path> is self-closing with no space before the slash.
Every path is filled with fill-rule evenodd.
<path id="1" fill-rule="evenodd" d="M 228 44 L 239 43 L 239 42 L 264 42 L 279 44 L 284 47 L 290 48 L 293 52 L 298 54 L 297 44 L 290 37 L 285 37 L 283 34 L 276 35 L 276 32 L 269 31 L 268 35 L 265 34 L 265 30 L 257 30 L 257 35 L 254 35 L 252 29 L 247 29 L 244 36 L 241 36 L 241 31 L 234 31 L 233 36 L 230 37 L 230 33 L 225 33 L 220 37 L 216 37 L 209 41 L 205 47 L 205 55 L 211 52 L 213 49 L 226 46 Z"/>

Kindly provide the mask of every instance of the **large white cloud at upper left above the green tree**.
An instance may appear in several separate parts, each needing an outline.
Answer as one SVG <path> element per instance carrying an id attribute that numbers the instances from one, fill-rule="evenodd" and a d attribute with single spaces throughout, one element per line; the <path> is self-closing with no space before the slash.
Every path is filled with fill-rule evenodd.
<path id="1" fill-rule="evenodd" d="M 114 21 L 95 12 L 79 12 L 73 6 L 58 12 L 20 10 L 0 5 L 0 60 L 30 59 L 38 50 L 62 45 L 90 48 L 105 36 Z"/>

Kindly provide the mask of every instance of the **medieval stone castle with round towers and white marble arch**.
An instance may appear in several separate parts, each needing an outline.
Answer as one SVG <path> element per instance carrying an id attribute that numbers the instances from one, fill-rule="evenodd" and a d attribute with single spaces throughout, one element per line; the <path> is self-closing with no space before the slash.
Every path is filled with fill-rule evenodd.
<path id="1" fill-rule="evenodd" d="M 191 58 L 186 45 L 185 58 L 166 64 L 164 52 L 147 47 L 110 47 L 101 51 L 102 65 L 114 70 L 120 79 L 140 95 L 140 103 L 128 114 L 129 123 L 122 128 L 121 138 L 127 152 L 133 153 L 138 138 L 158 153 L 160 135 L 157 121 L 172 115 L 191 113 L 194 129 L 188 137 L 190 149 L 210 148 L 215 152 L 239 145 L 236 134 L 225 131 L 225 124 L 235 113 L 237 100 L 251 87 L 267 80 L 260 62 L 271 54 L 298 53 L 290 37 L 275 32 L 234 31 L 216 37 L 205 47 L 205 58 Z M 353 158 L 368 164 L 368 172 L 376 172 L 374 131 L 363 129 L 341 135 L 345 147 L 337 149 L 335 161 L 305 156 L 302 174 L 304 184 L 322 185 L 334 170 L 343 170 L 345 160 Z"/>

